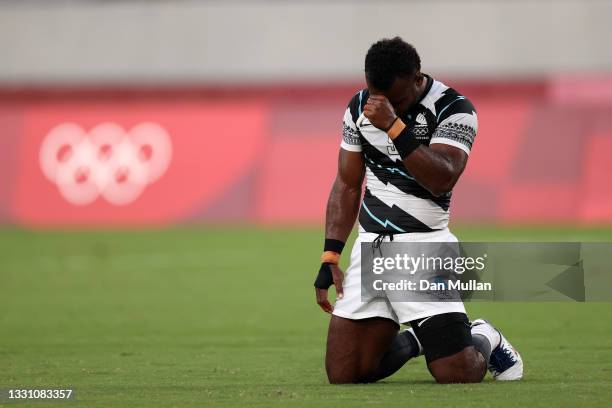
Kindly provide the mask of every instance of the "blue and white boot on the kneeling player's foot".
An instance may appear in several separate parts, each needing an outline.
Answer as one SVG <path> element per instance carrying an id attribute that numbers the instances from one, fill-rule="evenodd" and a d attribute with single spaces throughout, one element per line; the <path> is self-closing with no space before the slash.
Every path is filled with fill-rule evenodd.
<path id="1" fill-rule="evenodd" d="M 523 378 L 523 359 L 510 342 L 491 323 L 484 319 L 472 322 L 472 334 L 480 334 L 491 344 L 498 344 L 491 351 L 488 369 L 495 380 L 516 381 Z M 492 340 L 494 339 L 494 340 Z M 498 341 L 495 341 L 499 339 Z"/>

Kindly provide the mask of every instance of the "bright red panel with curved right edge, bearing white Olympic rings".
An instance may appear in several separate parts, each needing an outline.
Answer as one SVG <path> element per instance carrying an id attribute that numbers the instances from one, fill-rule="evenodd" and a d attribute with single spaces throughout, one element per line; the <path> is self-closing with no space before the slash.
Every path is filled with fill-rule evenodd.
<path id="1" fill-rule="evenodd" d="M 27 107 L 11 216 L 28 225 L 176 222 L 251 171 L 263 151 L 266 118 L 265 107 L 238 102 Z M 165 132 L 168 146 L 155 137 L 135 146 L 143 124 Z M 70 126 L 82 129 L 76 142 Z M 137 147 L 143 151 L 134 153 Z M 104 149 L 109 157 L 101 159 Z M 150 163 L 138 156 L 146 149 Z M 162 154 L 163 166 L 155 168 Z"/>

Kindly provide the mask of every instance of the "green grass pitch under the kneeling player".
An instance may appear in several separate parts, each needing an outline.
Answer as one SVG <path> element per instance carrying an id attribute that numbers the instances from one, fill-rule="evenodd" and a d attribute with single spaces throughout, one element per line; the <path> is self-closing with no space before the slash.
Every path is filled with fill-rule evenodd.
<path id="1" fill-rule="evenodd" d="M 606 228 L 455 232 L 612 241 Z M 437 385 L 419 358 L 381 383 L 328 385 L 321 241 L 307 228 L 2 229 L 0 388 L 75 390 L 36 407 L 612 406 L 610 303 L 470 304 L 521 351 L 521 382 Z"/>

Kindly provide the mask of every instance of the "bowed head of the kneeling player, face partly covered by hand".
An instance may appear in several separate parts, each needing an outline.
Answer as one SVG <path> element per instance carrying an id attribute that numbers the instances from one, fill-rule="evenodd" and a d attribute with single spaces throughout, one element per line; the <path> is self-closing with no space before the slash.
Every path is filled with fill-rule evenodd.
<path id="1" fill-rule="evenodd" d="M 416 49 L 400 37 L 374 43 L 365 59 L 365 76 L 372 95 L 384 95 L 397 114 L 419 98 L 424 75 Z"/>

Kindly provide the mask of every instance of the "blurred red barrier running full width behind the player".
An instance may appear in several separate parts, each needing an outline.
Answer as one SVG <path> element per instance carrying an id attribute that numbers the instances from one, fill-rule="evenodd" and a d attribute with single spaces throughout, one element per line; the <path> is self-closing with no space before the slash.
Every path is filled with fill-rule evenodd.
<path id="1" fill-rule="evenodd" d="M 479 114 L 454 219 L 612 222 L 612 76 L 442 80 Z M 321 223 L 359 87 L 5 89 L 0 220 Z"/>

